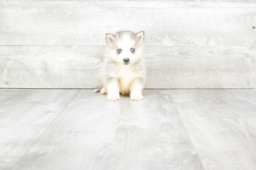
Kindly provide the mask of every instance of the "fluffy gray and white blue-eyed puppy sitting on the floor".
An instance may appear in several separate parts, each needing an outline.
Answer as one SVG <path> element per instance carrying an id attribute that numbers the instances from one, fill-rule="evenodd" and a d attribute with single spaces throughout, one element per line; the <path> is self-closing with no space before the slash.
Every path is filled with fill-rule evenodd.
<path id="1" fill-rule="evenodd" d="M 119 100 L 119 93 L 131 100 L 143 100 L 141 91 L 146 77 L 142 43 L 144 31 L 119 31 L 106 34 L 108 55 L 100 71 L 100 85 L 92 92 L 107 94 L 107 100 Z"/>

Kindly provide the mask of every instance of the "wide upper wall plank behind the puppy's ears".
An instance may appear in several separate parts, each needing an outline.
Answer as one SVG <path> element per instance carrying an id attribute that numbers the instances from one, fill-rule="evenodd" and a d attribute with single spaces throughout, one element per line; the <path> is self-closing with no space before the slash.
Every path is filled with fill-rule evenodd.
<path id="1" fill-rule="evenodd" d="M 1 2 L 0 45 L 106 45 L 145 31 L 145 45 L 255 46 L 256 3 Z"/>

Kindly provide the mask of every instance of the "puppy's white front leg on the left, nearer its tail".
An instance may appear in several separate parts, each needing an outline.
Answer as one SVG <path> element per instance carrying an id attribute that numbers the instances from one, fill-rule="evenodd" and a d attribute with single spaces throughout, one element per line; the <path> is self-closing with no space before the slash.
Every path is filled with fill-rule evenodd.
<path id="1" fill-rule="evenodd" d="M 107 91 L 108 91 L 107 100 L 115 101 L 120 99 L 117 80 L 113 79 L 110 81 L 110 83 L 107 86 Z"/>

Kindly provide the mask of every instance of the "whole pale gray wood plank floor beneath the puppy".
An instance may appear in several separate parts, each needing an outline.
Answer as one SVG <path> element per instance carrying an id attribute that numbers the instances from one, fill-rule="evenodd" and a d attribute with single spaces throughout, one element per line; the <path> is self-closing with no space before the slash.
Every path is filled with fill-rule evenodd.
<path id="1" fill-rule="evenodd" d="M 0 169 L 256 169 L 255 89 L 0 89 Z"/>

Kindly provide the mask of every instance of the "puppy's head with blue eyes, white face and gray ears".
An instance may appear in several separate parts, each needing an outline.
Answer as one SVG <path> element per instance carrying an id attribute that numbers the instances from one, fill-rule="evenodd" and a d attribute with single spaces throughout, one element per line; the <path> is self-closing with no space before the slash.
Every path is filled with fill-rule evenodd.
<path id="1" fill-rule="evenodd" d="M 110 57 L 124 66 L 129 66 L 141 57 L 144 31 L 120 31 L 114 35 L 107 33 L 106 40 Z"/>

